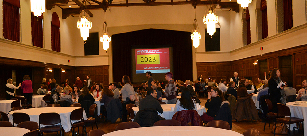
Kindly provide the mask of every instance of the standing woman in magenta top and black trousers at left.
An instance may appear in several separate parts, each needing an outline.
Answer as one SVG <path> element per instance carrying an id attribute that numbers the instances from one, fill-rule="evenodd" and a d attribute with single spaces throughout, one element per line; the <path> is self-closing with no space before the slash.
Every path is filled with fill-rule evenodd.
<path id="1" fill-rule="evenodd" d="M 28 99 L 27 101 L 28 104 L 32 104 L 33 89 L 32 89 L 32 81 L 29 75 L 23 76 L 21 89 L 23 90 L 23 96 L 25 96 L 25 98 Z"/>

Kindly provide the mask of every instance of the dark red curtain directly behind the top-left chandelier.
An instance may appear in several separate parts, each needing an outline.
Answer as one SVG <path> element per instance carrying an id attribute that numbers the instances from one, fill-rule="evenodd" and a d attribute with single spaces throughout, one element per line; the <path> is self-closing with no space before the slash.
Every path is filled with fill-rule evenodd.
<path id="1" fill-rule="evenodd" d="M 37 22 L 37 20 L 39 22 Z M 44 48 L 43 44 L 43 20 L 31 14 L 31 28 L 32 28 L 32 45 Z"/>

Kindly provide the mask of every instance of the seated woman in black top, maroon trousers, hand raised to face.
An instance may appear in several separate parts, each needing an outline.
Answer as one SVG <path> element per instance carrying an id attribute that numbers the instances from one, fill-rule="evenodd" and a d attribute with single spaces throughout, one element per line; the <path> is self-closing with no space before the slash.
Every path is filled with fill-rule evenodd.
<path id="1" fill-rule="evenodd" d="M 219 111 L 222 102 L 224 101 L 224 95 L 219 88 L 213 87 L 210 92 L 208 92 L 208 100 L 205 107 L 208 108 L 207 112 L 201 115 L 202 121 L 212 121 L 216 113 Z"/>

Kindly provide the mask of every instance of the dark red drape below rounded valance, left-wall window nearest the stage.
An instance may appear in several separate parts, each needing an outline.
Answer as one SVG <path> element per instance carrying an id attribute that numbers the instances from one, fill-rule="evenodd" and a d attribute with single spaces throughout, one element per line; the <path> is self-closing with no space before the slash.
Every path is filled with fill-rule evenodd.
<path id="1" fill-rule="evenodd" d="M 61 52 L 60 28 L 52 24 L 51 24 L 51 49 L 56 52 Z"/>

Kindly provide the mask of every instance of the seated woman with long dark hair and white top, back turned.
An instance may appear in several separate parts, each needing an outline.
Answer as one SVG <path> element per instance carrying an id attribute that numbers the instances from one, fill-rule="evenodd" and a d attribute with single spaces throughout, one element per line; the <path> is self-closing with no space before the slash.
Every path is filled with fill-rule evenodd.
<path id="1" fill-rule="evenodd" d="M 182 110 L 197 110 L 196 101 L 192 99 L 190 90 L 187 87 L 182 90 L 181 98 L 177 99 L 174 112 Z"/>

